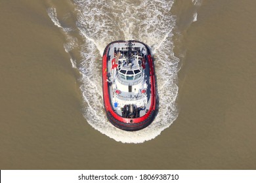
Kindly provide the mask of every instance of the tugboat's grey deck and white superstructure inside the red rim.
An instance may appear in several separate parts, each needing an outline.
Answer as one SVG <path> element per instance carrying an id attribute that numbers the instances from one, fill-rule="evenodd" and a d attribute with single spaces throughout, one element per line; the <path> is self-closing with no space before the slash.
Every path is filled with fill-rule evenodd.
<path id="1" fill-rule="evenodd" d="M 138 108 L 138 115 L 143 116 L 150 107 L 150 69 L 147 55 L 145 46 L 139 42 L 117 42 L 109 50 L 110 99 L 120 116 L 125 116 L 123 108 L 129 107 L 129 111 Z"/>

